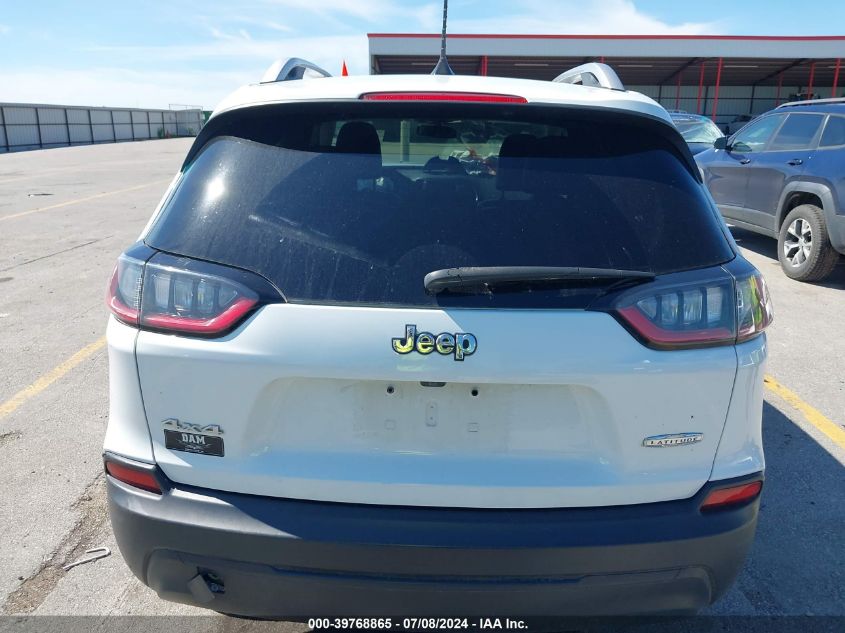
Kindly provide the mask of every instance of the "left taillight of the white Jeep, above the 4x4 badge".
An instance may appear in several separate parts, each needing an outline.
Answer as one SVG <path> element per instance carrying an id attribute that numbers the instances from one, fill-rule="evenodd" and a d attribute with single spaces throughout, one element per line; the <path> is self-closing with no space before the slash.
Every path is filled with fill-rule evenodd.
<path id="1" fill-rule="evenodd" d="M 244 283 L 247 277 L 243 271 L 168 255 L 146 263 L 122 255 L 107 303 L 118 320 L 144 330 L 219 336 L 261 303 L 259 292 Z"/>

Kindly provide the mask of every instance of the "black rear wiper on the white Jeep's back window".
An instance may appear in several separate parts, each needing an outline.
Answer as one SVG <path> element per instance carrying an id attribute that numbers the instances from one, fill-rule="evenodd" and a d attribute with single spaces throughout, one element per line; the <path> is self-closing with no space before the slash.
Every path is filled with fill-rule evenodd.
<path id="1" fill-rule="evenodd" d="M 650 281 L 654 279 L 654 273 L 647 270 L 573 266 L 468 266 L 433 270 L 425 276 L 424 283 L 428 292 L 437 294 L 444 290 L 478 286 L 534 285 L 599 279 Z"/>

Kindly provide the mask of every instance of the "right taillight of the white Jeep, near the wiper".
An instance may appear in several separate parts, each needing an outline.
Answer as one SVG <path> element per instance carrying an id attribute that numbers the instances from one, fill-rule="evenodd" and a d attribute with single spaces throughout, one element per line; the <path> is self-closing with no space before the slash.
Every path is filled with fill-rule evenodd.
<path id="1" fill-rule="evenodd" d="M 772 321 L 769 293 L 758 272 L 689 282 L 671 277 L 626 293 L 615 306 L 651 347 L 732 345 L 757 336 Z"/>

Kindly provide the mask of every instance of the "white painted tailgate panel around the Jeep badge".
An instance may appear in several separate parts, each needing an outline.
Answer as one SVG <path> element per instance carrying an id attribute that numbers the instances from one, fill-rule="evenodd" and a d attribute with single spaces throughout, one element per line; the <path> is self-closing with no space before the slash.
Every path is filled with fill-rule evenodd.
<path id="1" fill-rule="evenodd" d="M 406 323 L 471 332 L 478 349 L 463 362 L 397 354 L 391 338 Z M 763 356 L 749 356 L 751 366 Z M 278 304 L 222 339 L 141 332 L 137 360 L 155 461 L 196 486 L 350 503 L 584 507 L 692 496 L 720 438 L 725 464 L 741 461 L 741 433 L 723 438 L 735 348 L 651 350 L 603 313 Z M 167 418 L 219 424 L 225 457 L 166 449 Z M 703 440 L 642 446 L 689 431 Z"/>

